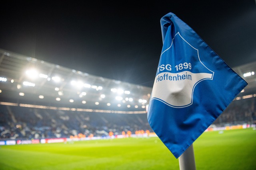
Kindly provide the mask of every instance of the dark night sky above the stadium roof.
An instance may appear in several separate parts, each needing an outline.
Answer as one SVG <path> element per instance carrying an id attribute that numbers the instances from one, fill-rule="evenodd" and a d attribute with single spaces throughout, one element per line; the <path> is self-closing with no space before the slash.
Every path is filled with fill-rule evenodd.
<path id="1" fill-rule="evenodd" d="M 0 49 L 152 87 L 172 12 L 229 66 L 256 60 L 255 0 L 102 2 L 1 2 Z"/>

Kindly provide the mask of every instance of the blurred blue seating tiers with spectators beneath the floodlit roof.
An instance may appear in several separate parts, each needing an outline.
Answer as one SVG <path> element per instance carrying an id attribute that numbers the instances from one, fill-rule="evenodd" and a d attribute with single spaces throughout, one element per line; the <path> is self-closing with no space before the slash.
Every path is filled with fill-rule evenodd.
<path id="1" fill-rule="evenodd" d="M 213 123 L 215 126 L 256 123 L 254 98 L 233 101 Z M 0 140 L 44 139 L 121 135 L 122 132 L 149 130 L 147 114 L 61 111 L 0 105 Z"/>

